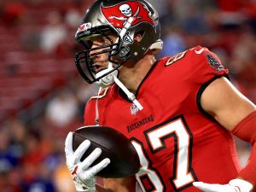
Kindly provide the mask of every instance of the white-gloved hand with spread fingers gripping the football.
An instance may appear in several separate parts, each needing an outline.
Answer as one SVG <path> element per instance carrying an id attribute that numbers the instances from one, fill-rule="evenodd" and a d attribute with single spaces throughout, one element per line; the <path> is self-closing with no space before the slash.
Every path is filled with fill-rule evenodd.
<path id="1" fill-rule="evenodd" d="M 85 140 L 73 151 L 73 133 L 69 132 L 65 141 L 66 163 L 71 172 L 75 187 L 79 192 L 96 191 L 96 173 L 110 163 L 108 158 L 102 160 L 96 166 L 90 165 L 102 154 L 101 148 L 96 148 L 88 157 L 81 161 L 84 152 L 90 147 L 90 141 Z"/>

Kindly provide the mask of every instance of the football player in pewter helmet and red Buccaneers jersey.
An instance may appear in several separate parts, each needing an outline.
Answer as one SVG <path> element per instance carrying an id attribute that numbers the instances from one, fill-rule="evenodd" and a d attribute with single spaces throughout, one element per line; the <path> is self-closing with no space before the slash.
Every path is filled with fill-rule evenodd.
<path id="1" fill-rule="evenodd" d="M 104 179 L 96 173 L 108 158 L 82 162 L 90 147 L 72 149 L 67 166 L 79 192 L 249 192 L 256 183 L 256 108 L 230 83 L 218 56 L 197 46 L 155 61 L 162 49 L 159 15 L 144 0 L 97 0 L 76 33 L 81 76 L 101 87 L 84 111 L 85 125 L 105 125 L 125 134 L 137 149 L 134 177 Z M 247 166 L 238 164 L 232 137 L 252 144 Z"/>

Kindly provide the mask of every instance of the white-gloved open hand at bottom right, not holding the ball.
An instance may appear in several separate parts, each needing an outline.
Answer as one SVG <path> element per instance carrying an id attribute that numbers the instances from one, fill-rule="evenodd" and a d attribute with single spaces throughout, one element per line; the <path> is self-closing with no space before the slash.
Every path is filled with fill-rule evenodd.
<path id="1" fill-rule="evenodd" d="M 238 178 L 230 180 L 228 184 L 194 182 L 193 185 L 206 192 L 249 192 L 253 189 L 253 184 Z"/>

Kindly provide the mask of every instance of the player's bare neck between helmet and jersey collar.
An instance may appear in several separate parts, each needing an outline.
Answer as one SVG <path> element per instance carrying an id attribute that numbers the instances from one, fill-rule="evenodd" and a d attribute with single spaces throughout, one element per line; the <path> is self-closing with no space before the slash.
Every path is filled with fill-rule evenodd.
<path id="1" fill-rule="evenodd" d="M 154 62 L 154 55 L 145 55 L 133 67 L 121 67 L 119 70 L 119 80 L 125 84 L 128 90 L 135 93 Z"/>

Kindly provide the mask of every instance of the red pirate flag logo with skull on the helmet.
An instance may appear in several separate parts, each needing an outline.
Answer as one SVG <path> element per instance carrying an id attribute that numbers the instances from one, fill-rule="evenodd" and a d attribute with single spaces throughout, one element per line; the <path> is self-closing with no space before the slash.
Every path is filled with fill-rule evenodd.
<path id="1" fill-rule="evenodd" d="M 116 28 L 124 27 L 129 17 L 133 17 L 131 26 L 136 26 L 139 22 L 148 22 L 154 26 L 154 20 L 151 18 L 152 14 L 148 7 L 139 2 L 119 3 L 111 7 L 102 5 L 102 14 Z"/>

